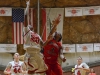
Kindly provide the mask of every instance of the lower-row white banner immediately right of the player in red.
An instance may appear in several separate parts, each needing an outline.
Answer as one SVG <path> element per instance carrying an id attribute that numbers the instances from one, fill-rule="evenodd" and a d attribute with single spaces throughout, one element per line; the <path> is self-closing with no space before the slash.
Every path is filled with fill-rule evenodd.
<path id="1" fill-rule="evenodd" d="M 63 53 L 75 53 L 75 44 L 63 44 Z"/>

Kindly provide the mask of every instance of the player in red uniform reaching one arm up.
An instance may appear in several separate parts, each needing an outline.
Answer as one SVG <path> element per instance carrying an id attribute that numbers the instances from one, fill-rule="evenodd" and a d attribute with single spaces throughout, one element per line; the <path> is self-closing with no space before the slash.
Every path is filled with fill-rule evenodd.
<path id="1" fill-rule="evenodd" d="M 63 56 L 62 46 L 60 43 L 62 35 L 59 32 L 55 32 L 56 26 L 60 22 L 60 17 L 61 15 L 59 15 L 58 18 L 56 18 L 53 22 L 54 27 L 52 28 L 50 35 L 48 36 L 47 44 L 43 47 L 44 61 L 48 66 L 46 75 L 63 75 L 61 65 L 58 63 L 59 57 L 63 62 L 66 61 L 66 58 Z"/>

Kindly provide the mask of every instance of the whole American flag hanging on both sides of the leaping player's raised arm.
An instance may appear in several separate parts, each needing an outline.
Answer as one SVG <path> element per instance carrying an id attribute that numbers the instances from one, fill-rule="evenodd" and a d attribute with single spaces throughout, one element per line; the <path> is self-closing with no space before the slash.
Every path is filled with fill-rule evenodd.
<path id="1" fill-rule="evenodd" d="M 23 44 L 23 24 L 24 22 L 24 12 L 25 9 L 12 9 L 12 18 L 13 18 L 13 43 L 14 44 Z M 33 21 L 35 20 L 35 10 L 33 8 L 29 9 L 30 19 L 28 19 L 28 24 L 35 27 Z M 28 17 L 28 16 L 27 16 Z M 30 20 L 30 21 L 29 21 Z"/>

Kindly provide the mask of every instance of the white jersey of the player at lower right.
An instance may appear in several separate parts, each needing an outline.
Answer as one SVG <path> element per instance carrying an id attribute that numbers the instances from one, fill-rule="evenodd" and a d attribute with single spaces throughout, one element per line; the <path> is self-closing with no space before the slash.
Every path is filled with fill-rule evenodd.
<path id="1" fill-rule="evenodd" d="M 85 70 L 80 70 L 77 68 L 86 68 L 89 69 L 89 66 L 86 63 L 81 63 L 80 65 L 75 65 L 75 75 L 78 75 L 78 73 L 81 73 L 81 75 L 85 75 Z"/>

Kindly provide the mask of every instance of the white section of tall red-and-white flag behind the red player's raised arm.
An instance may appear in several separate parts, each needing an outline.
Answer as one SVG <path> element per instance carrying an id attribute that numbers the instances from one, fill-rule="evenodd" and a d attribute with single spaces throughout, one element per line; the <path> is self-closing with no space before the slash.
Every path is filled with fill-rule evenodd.
<path id="1" fill-rule="evenodd" d="M 57 31 L 59 31 L 61 34 L 63 32 L 63 17 L 64 17 L 64 8 L 46 8 L 46 31 L 47 36 L 50 33 L 50 30 L 52 29 L 52 21 L 57 18 L 59 15 L 61 15 L 60 23 L 57 26 Z"/>

